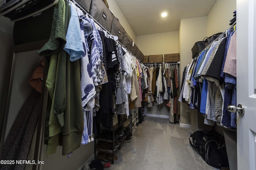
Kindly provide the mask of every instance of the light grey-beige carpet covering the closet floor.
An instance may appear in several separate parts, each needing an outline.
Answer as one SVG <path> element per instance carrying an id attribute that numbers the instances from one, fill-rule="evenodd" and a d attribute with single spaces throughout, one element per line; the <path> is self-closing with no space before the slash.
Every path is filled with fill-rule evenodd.
<path id="1" fill-rule="evenodd" d="M 118 160 L 106 170 L 218 170 L 190 146 L 191 133 L 169 119 L 145 117 L 132 141 L 122 143 L 116 151 Z"/>

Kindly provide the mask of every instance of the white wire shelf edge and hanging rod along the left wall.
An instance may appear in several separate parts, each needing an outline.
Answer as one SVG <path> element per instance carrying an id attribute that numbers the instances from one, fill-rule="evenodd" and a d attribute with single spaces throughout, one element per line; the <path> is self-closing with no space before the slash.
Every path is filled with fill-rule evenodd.
<path id="1" fill-rule="evenodd" d="M 71 4 L 71 5 L 74 4 L 74 7 L 76 8 L 76 12 L 78 13 L 78 15 L 81 14 L 81 15 L 84 16 L 84 17 L 93 19 L 94 22 L 99 26 L 97 29 L 103 30 L 103 31 L 107 34 L 107 36 L 111 36 L 111 37 L 114 36 L 114 35 L 112 35 L 110 32 L 108 32 L 108 30 L 106 30 L 106 29 L 105 29 L 98 21 L 96 21 L 90 14 L 88 14 L 88 12 L 86 12 L 86 10 L 84 10 L 84 8 L 82 8 L 75 0 L 69 0 L 68 3 Z M 124 49 L 126 49 L 126 51 L 128 51 L 128 53 L 129 53 L 130 55 L 132 55 L 133 57 L 135 57 L 135 58 L 139 61 L 140 64 L 143 64 L 143 63 L 142 63 L 136 56 L 134 56 L 134 55 L 132 54 L 132 52 L 130 52 L 130 50 L 128 50 L 122 43 L 120 43 L 118 40 L 115 40 L 115 41 L 117 41 L 118 44 L 120 44 Z M 143 64 L 143 65 L 144 65 L 144 64 Z"/>

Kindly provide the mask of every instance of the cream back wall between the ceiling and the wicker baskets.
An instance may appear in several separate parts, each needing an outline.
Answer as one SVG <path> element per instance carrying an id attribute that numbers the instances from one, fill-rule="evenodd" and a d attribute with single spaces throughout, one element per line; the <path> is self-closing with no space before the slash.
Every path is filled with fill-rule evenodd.
<path id="1" fill-rule="evenodd" d="M 178 31 L 140 35 L 136 45 L 144 55 L 178 53 L 178 38 Z"/>

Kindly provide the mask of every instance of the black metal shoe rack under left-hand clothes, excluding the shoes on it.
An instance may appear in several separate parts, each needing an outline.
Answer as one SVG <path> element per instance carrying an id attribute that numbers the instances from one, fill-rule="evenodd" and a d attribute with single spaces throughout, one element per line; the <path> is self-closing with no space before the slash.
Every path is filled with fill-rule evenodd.
<path id="1" fill-rule="evenodd" d="M 120 119 L 118 119 L 118 126 L 115 129 L 98 128 L 98 132 L 97 134 L 95 134 L 96 139 L 94 140 L 94 159 L 100 159 L 104 162 L 110 162 L 111 164 L 114 164 L 114 155 L 116 151 L 120 150 L 121 144 L 126 139 L 126 137 L 128 137 L 128 135 L 131 133 L 132 115 L 128 116 L 128 120 L 130 121 L 130 124 L 127 127 L 123 127 L 126 119 L 124 119 L 124 121 L 120 121 Z M 122 139 L 122 141 L 119 141 L 118 138 L 121 136 L 122 133 L 125 133 L 126 131 L 128 131 L 126 137 Z M 118 145 L 116 145 L 117 141 Z M 99 149 L 99 146 L 101 146 L 101 149 Z M 105 158 L 98 158 L 97 152 L 101 152 L 103 154 L 105 153 L 106 155 L 111 154 L 111 159 L 108 156 L 106 156 Z"/>

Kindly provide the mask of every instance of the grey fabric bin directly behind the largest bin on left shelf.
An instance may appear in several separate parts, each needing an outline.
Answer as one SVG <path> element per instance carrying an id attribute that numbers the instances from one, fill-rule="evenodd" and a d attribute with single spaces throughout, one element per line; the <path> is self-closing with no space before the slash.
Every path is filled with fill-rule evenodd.
<path id="1" fill-rule="evenodd" d="M 118 18 L 116 18 L 115 16 L 113 17 L 110 33 L 112 35 L 118 36 L 118 41 L 120 43 L 123 42 L 125 30 L 124 30 L 124 27 L 122 27 L 122 25 L 120 24 Z"/>

